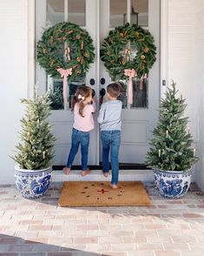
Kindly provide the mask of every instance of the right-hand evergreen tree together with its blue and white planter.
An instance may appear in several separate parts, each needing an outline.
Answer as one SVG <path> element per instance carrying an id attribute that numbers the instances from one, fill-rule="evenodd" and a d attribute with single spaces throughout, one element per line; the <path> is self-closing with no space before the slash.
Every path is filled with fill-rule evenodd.
<path id="1" fill-rule="evenodd" d="M 191 167 L 197 161 L 192 148 L 188 118 L 183 117 L 187 104 L 176 97 L 173 82 L 166 98 L 161 99 L 160 118 L 153 131 L 147 164 L 155 174 L 155 187 L 166 198 L 180 198 L 191 182 Z"/>

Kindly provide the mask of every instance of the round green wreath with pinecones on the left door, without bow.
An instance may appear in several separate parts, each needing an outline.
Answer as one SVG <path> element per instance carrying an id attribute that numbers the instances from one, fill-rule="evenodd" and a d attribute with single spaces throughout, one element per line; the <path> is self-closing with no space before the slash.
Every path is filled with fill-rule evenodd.
<path id="1" fill-rule="evenodd" d="M 43 32 L 42 40 L 36 45 L 36 59 L 51 77 L 61 77 L 57 69 L 71 69 L 69 79 L 73 80 L 89 70 L 89 64 L 94 62 L 94 50 L 86 30 L 63 22 Z"/>

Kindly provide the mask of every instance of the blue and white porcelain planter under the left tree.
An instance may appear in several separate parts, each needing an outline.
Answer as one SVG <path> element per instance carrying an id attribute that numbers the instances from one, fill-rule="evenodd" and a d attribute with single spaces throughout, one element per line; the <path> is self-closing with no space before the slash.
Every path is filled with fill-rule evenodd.
<path id="1" fill-rule="evenodd" d="M 47 192 L 51 179 L 52 167 L 43 170 L 26 170 L 15 166 L 16 188 L 21 192 L 23 198 L 38 199 Z"/>

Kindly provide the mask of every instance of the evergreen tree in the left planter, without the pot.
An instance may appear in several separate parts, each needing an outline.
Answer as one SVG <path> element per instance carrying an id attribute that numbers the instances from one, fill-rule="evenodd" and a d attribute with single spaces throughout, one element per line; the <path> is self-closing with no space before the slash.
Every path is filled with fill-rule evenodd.
<path id="1" fill-rule="evenodd" d="M 24 98 L 26 114 L 21 119 L 21 142 L 12 157 L 21 169 L 40 170 L 52 165 L 53 147 L 56 138 L 51 133 L 48 117 L 50 114 L 49 94 L 39 96 L 35 88 L 34 98 Z"/>

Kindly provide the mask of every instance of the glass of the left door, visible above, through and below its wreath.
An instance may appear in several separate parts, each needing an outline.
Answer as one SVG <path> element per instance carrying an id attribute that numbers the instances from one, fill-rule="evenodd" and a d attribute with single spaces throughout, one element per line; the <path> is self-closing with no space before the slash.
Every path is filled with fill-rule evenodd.
<path id="1" fill-rule="evenodd" d="M 65 6 L 67 4 L 67 9 Z M 60 22 L 72 22 L 81 27 L 86 25 L 86 0 L 47 0 L 46 3 L 46 27 Z M 62 43 L 62 49 L 65 44 Z M 61 54 L 62 51 L 59 51 Z M 63 56 L 62 56 L 63 57 Z M 85 76 L 71 81 L 67 88 L 68 107 L 71 107 L 71 98 L 75 95 L 76 87 L 85 84 Z M 49 91 L 53 110 L 63 110 L 63 79 L 56 79 L 47 75 L 47 91 Z"/>

